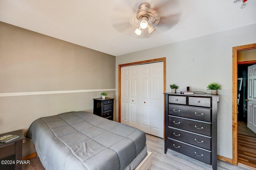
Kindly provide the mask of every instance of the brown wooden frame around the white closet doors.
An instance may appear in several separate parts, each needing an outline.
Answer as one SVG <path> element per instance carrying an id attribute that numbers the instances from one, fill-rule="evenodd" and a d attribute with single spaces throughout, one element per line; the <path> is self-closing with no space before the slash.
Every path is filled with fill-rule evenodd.
<path id="1" fill-rule="evenodd" d="M 164 62 L 164 93 L 166 93 L 166 57 L 118 65 L 118 122 L 119 123 L 121 123 L 121 67 L 145 64 L 145 63 L 154 63 L 154 62 L 159 62 L 159 61 Z M 163 104 L 164 104 L 164 97 L 163 97 Z M 162 114 L 164 115 L 164 112 Z"/>

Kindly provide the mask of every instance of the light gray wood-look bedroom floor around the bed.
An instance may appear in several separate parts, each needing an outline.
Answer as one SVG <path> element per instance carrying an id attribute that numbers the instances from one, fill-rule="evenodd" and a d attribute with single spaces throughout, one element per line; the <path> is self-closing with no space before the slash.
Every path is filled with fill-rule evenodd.
<path id="1" fill-rule="evenodd" d="M 208 164 L 174 152 L 167 151 L 164 154 L 164 140 L 156 136 L 146 134 L 148 151 L 153 153 L 150 170 L 211 170 Z M 22 166 L 22 170 L 44 170 L 39 158 L 30 159 L 29 165 Z M 242 166 L 234 166 L 218 160 L 218 170 L 248 170 Z"/>

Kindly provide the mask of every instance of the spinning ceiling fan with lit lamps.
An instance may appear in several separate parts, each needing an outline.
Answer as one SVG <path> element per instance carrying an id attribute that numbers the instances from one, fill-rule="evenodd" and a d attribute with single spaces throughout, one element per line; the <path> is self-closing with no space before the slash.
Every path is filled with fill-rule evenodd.
<path id="1" fill-rule="evenodd" d="M 180 16 L 180 0 L 120 0 L 112 10 L 110 22 L 122 34 L 149 38 L 170 30 Z"/>

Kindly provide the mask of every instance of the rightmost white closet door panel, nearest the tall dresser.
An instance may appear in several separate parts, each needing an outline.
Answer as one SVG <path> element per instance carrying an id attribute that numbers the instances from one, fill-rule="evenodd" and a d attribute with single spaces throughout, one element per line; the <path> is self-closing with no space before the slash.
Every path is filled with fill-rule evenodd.
<path id="1" fill-rule="evenodd" d="M 151 134 L 164 137 L 164 66 L 150 64 L 150 120 Z"/>

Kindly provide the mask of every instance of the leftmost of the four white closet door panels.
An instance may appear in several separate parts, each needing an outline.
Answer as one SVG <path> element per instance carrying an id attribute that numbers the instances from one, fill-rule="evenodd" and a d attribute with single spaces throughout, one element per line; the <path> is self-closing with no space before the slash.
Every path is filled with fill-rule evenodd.
<path id="1" fill-rule="evenodd" d="M 121 67 L 121 123 L 129 125 L 129 67 Z"/>

